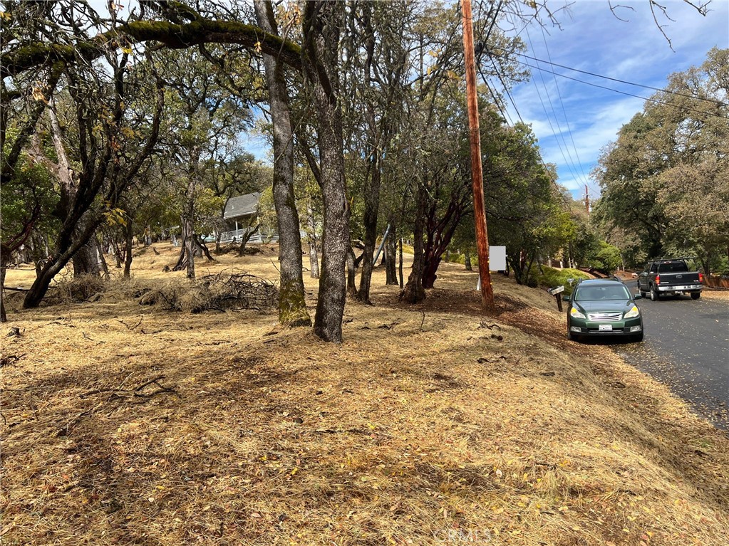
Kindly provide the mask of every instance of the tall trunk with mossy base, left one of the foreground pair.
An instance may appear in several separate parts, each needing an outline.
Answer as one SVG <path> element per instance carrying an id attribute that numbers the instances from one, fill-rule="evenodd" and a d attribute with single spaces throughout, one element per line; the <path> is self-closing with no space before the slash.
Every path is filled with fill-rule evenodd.
<path id="1" fill-rule="evenodd" d="M 271 2 L 254 0 L 254 8 L 260 27 L 268 33 L 278 34 Z M 304 298 L 301 228 L 294 195 L 294 141 L 284 64 L 272 55 L 263 55 L 263 64 L 273 120 L 273 202 L 278 219 L 278 260 L 281 264 L 278 322 L 308 326 L 311 317 Z"/>

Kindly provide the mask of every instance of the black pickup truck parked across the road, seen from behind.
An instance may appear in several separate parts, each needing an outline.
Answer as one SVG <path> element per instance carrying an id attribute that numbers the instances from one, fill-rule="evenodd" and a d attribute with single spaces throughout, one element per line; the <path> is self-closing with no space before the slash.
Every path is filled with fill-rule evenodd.
<path id="1" fill-rule="evenodd" d="M 660 296 L 691 295 L 692 299 L 701 298 L 703 274 L 691 271 L 687 260 L 691 258 L 661 258 L 649 261 L 644 271 L 638 275 L 638 290 L 641 296 L 650 293 L 656 301 Z"/>

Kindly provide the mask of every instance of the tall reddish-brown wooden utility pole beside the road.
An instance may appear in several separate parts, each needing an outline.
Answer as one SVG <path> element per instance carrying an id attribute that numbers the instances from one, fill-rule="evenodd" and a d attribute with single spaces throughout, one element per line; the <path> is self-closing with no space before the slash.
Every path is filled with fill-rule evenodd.
<path id="1" fill-rule="evenodd" d="M 476 62 L 473 52 L 473 16 L 471 0 L 461 0 L 463 13 L 463 50 L 466 61 L 466 99 L 468 103 L 468 126 L 471 143 L 471 181 L 473 185 L 473 218 L 476 224 L 476 246 L 478 249 L 478 272 L 481 278 L 481 305 L 486 311 L 494 312 L 494 288 L 491 287 L 491 273 L 488 272 L 488 230 L 486 229 L 486 207 L 483 205 L 483 168 L 481 167 L 481 135 L 478 127 L 478 96 L 476 93 Z"/>

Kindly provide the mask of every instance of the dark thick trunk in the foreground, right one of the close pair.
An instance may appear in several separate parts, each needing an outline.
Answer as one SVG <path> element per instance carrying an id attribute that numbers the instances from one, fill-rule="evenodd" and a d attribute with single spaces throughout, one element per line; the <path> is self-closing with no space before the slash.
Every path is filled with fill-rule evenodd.
<path id="1" fill-rule="evenodd" d="M 337 55 L 344 4 L 307 2 L 303 14 L 304 74 L 319 122 L 324 237 L 314 333 L 324 341 L 342 341 L 346 301 L 345 262 L 349 247 L 349 207 L 344 180 L 342 113 L 338 104 Z"/>

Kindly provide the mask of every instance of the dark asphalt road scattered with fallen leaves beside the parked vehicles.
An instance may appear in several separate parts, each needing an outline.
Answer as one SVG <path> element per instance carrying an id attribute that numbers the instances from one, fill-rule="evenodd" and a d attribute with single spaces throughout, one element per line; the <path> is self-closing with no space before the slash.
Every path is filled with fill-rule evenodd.
<path id="1" fill-rule="evenodd" d="M 627 282 L 637 293 L 637 283 Z M 637 301 L 643 314 L 642 344 L 616 344 L 628 363 L 693 405 L 717 427 L 729 430 L 729 305 L 690 296 Z"/>

